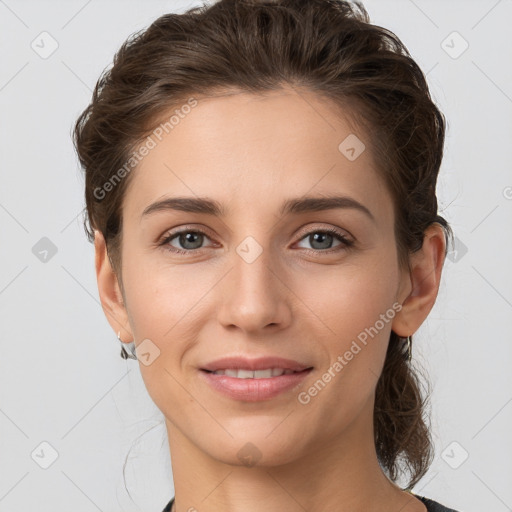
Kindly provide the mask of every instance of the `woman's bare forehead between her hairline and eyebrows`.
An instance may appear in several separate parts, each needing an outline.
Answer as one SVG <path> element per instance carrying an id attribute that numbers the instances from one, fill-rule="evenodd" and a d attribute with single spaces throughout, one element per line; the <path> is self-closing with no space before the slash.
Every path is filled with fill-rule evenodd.
<path id="1" fill-rule="evenodd" d="M 391 213 L 366 133 L 312 92 L 199 97 L 193 108 L 163 113 L 155 130 L 126 191 L 124 213 L 133 218 L 162 196 L 214 197 L 229 213 L 277 211 L 283 198 L 333 192 Z"/>

